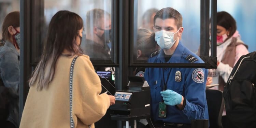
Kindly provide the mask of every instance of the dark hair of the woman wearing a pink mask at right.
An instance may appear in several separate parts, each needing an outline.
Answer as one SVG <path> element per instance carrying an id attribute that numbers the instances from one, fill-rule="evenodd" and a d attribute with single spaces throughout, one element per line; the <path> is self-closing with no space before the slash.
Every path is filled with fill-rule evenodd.
<path id="1" fill-rule="evenodd" d="M 225 11 L 217 12 L 217 25 L 229 30 L 228 37 L 232 37 L 237 30 L 236 20 Z"/>

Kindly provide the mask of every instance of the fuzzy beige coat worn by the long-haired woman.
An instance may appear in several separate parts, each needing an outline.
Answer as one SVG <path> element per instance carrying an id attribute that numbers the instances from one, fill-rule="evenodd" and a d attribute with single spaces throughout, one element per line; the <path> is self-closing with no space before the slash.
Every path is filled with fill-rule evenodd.
<path id="1" fill-rule="evenodd" d="M 69 71 L 73 57 L 60 56 L 53 81 L 47 90 L 29 89 L 20 128 L 70 128 Z M 101 94 L 99 76 L 86 55 L 79 56 L 73 74 L 73 119 L 75 128 L 94 128 L 110 106 L 107 94 Z"/>

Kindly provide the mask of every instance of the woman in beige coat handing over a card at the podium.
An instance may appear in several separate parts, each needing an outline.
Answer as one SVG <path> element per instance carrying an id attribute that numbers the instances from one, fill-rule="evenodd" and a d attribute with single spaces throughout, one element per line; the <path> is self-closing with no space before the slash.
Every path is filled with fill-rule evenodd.
<path id="1" fill-rule="evenodd" d="M 73 12 L 59 11 L 51 19 L 42 58 L 29 80 L 20 128 L 68 128 L 71 117 L 75 128 L 94 128 L 115 103 L 114 96 L 100 94 L 100 79 L 79 47 L 82 31 L 83 20 Z M 70 66 L 76 56 L 70 104 Z"/>

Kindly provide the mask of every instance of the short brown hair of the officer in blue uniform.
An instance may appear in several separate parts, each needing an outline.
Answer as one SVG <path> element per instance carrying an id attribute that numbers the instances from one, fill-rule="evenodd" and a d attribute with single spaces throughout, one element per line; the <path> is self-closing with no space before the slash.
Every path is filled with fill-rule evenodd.
<path id="1" fill-rule="evenodd" d="M 174 18 L 175 23 L 177 25 L 177 29 L 182 27 L 182 15 L 175 9 L 173 8 L 163 8 L 160 11 L 158 11 L 154 17 L 154 25 L 156 23 L 156 18 L 160 19 L 169 19 L 169 18 Z"/>

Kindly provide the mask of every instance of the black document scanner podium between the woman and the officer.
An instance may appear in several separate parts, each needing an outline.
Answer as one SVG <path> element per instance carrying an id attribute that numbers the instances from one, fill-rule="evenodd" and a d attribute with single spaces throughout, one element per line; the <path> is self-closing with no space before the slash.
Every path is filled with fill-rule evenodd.
<path id="1" fill-rule="evenodd" d="M 150 86 L 144 77 L 129 77 L 127 89 L 116 91 L 114 96 L 115 104 L 110 106 L 112 120 L 125 120 L 126 126 L 134 121 L 136 127 L 136 120 L 150 118 Z"/>

